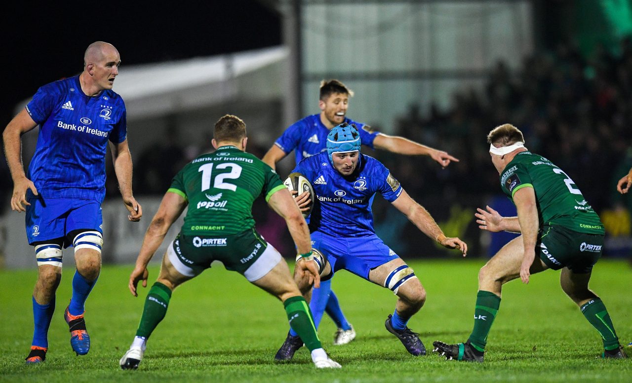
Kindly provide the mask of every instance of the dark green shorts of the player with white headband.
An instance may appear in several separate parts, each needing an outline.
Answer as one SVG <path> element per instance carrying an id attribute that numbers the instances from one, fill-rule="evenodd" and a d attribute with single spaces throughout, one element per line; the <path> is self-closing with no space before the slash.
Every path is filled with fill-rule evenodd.
<path id="1" fill-rule="evenodd" d="M 574 273 L 585 274 L 590 273 L 593 265 L 599 261 L 604 247 L 604 236 L 578 233 L 557 225 L 545 225 L 538 247 L 540 259 L 549 268 L 569 268 Z"/>

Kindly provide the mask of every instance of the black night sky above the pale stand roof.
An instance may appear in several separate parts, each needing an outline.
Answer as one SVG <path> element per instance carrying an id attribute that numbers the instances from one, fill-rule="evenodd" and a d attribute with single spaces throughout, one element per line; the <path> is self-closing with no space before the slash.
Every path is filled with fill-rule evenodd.
<path id="1" fill-rule="evenodd" d="M 3 6 L 4 18 L 11 22 L 0 27 L 2 129 L 15 104 L 39 86 L 82 71 L 83 52 L 97 40 L 119 50 L 121 71 L 130 64 L 281 44 L 281 16 L 255 0 L 34 3 L 39 2 Z"/>

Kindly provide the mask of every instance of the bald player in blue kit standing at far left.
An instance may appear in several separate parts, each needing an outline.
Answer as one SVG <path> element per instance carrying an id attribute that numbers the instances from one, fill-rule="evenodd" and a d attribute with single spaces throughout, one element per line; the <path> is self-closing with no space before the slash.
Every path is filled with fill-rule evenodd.
<path id="1" fill-rule="evenodd" d="M 94 42 L 83 56 L 83 72 L 37 90 L 27 107 L 4 129 L 4 151 L 13 179 L 11 209 L 26 212 L 28 244 L 38 266 L 33 290 L 35 330 L 27 363 L 46 359 L 48 328 L 61 280 L 62 249 L 75 248 L 73 293 L 64 312 L 70 345 L 77 355 L 90 350 L 84 305 L 101 266 L 100 205 L 106 194 L 109 146 L 128 219 L 142 208 L 131 192 L 131 155 L 123 99 L 112 91 L 121 57 L 106 42 Z M 35 154 L 25 174 L 21 135 L 39 125 Z"/>

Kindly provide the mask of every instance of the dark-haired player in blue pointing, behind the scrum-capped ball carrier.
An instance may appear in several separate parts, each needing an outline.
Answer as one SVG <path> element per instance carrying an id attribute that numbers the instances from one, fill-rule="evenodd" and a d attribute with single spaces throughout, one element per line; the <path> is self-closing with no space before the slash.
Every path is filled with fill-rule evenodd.
<path id="1" fill-rule="evenodd" d="M 327 134 L 334 126 L 347 122 L 354 124 L 360 133 L 362 144 L 370 148 L 391 151 L 402 155 L 427 155 L 439 163 L 442 167 L 449 165 L 451 161 L 458 162 L 458 159 L 449 155 L 445 151 L 436 150 L 428 146 L 418 144 L 410 139 L 388 136 L 371 129 L 367 124 L 356 122 L 346 117 L 349 98 L 353 96 L 353 91 L 338 80 L 323 80 L 320 83 L 320 114 L 308 115 L 286 129 L 270 150 L 265 153 L 263 161 L 273 169 L 276 163 L 283 160 L 291 151 L 295 151 L 296 165 L 303 158 L 315 155 L 325 149 Z M 303 196 L 307 198 L 307 194 Z M 304 199 L 299 197 L 298 203 Z M 331 291 L 331 281 L 325 281 L 320 288 L 313 290 L 310 308 L 315 314 L 322 312 L 321 306 L 336 322 L 338 327 L 334 334 L 334 345 L 344 345 L 355 338 L 355 331 L 346 318 L 338 304 L 336 294 Z M 314 322 L 319 326 L 320 315 L 314 315 Z M 294 334 L 296 335 L 296 334 Z"/>

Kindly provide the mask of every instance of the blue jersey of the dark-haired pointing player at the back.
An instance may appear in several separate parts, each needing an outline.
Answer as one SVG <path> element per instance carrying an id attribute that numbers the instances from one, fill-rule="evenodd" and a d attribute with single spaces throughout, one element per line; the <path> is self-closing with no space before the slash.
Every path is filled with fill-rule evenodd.
<path id="1" fill-rule="evenodd" d="M 360 132 L 360 141 L 373 149 L 373 140 L 379 132 L 371 131 L 366 124 L 345 118 L 344 122 L 354 124 Z M 330 130 L 320 121 L 320 114 L 308 115 L 285 129 L 274 144 L 286 154 L 296 150 L 296 165 L 303 158 L 313 156 L 327 148 L 327 134 Z"/>

